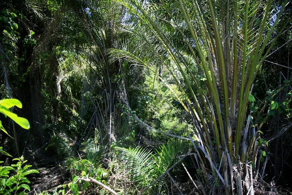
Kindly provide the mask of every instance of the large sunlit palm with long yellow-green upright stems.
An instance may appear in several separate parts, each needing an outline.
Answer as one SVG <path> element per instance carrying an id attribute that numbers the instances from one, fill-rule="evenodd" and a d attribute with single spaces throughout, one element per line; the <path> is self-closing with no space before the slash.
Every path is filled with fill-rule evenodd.
<path id="1" fill-rule="evenodd" d="M 173 95 L 191 118 L 189 139 L 196 151 L 195 166 L 201 170 L 198 189 L 254 194 L 258 157 L 265 153 L 259 142 L 260 121 L 252 120 L 254 113 L 248 107 L 255 102 L 256 75 L 283 32 L 271 36 L 288 1 L 120 2 L 128 15 L 139 20 L 129 23 L 128 30 L 151 58 L 138 56 L 137 51 L 111 50 L 111 54 L 154 73 L 155 59 L 172 75 L 183 97 Z M 163 75 L 157 77 L 169 86 Z"/>

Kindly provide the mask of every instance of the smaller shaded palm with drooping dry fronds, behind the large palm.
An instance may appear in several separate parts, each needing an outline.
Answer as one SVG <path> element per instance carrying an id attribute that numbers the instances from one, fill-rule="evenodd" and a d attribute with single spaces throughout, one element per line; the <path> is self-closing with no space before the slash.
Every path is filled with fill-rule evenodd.
<path id="1" fill-rule="evenodd" d="M 121 67 L 118 60 L 109 58 L 107 50 L 117 48 L 120 21 L 125 9 L 111 0 L 66 0 L 65 5 L 68 14 L 66 21 L 74 18 L 73 24 L 80 34 L 80 39 L 73 41 L 72 46 L 76 47 L 75 53 L 80 54 L 81 64 L 85 64 L 86 69 L 83 86 L 78 87 L 81 90 L 78 97 L 81 98 L 81 120 L 86 113 L 91 115 L 88 126 L 79 132 L 78 139 L 81 142 L 94 135 L 100 139 L 101 145 L 110 146 L 116 139 L 121 121 L 120 109 L 116 107 Z M 70 29 L 69 26 L 68 30 L 73 35 L 74 30 Z"/>

